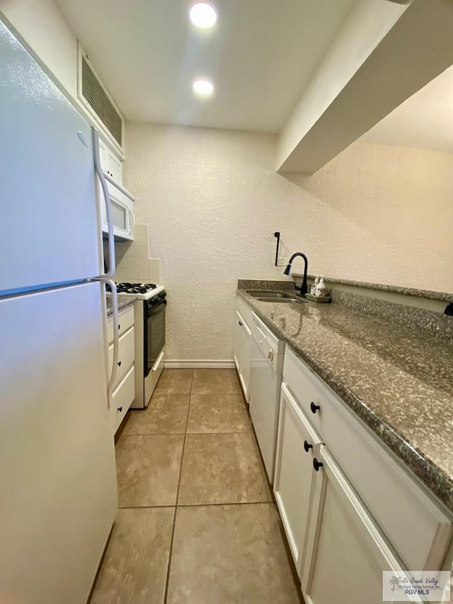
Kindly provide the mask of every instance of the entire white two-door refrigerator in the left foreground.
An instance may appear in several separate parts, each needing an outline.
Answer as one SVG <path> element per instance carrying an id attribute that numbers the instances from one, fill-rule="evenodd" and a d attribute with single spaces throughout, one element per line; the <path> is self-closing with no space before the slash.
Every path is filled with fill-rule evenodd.
<path id="1" fill-rule="evenodd" d="M 97 133 L 1 21 L 0 82 L 0 601 L 83 604 L 117 509 Z"/>

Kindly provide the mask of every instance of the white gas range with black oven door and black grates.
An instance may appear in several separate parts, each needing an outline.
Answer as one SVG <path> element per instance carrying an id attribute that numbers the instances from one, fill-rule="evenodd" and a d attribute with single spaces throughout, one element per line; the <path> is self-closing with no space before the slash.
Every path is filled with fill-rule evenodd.
<path id="1" fill-rule="evenodd" d="M 117 283 L 117 295 L 135 300 L 135 398 L 131 409 L 145 409 L 164 369 L 166 291 L 164 285 L 154 283 Z"/>

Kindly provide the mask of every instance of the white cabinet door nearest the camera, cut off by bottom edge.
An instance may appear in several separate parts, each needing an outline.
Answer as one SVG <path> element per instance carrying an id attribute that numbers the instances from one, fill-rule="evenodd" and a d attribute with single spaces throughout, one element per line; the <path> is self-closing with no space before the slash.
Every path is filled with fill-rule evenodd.
<path id="1" fill-rule="evenodd" d="M 307 604 L 382 604 L 382 571 L 401 571 L 362 503 L 326 448 L 316 455 L 313 514 L 302 591 Z M 417 600 L 415 600 L 417 601 Z"/>

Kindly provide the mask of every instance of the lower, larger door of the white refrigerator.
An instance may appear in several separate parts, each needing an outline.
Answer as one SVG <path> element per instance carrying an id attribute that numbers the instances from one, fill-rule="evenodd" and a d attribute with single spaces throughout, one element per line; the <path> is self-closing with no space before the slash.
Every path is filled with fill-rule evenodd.
<path id="1" fill-rule="evenodd" d="M 113 525 L 101 287 L 0 300 L 0 602 L 85 603 Z"/>

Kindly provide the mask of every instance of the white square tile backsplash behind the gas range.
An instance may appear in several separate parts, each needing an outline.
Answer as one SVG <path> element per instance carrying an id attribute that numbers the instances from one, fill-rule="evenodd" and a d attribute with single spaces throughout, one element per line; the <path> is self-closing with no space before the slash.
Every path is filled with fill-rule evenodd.
<path id="1" fill-rule="evenodd" d="M 115 241 L 117 283 L 161 283 L 161 261 L 149 258 L 149 228 L 135 224 L 134 241 Z"/>

